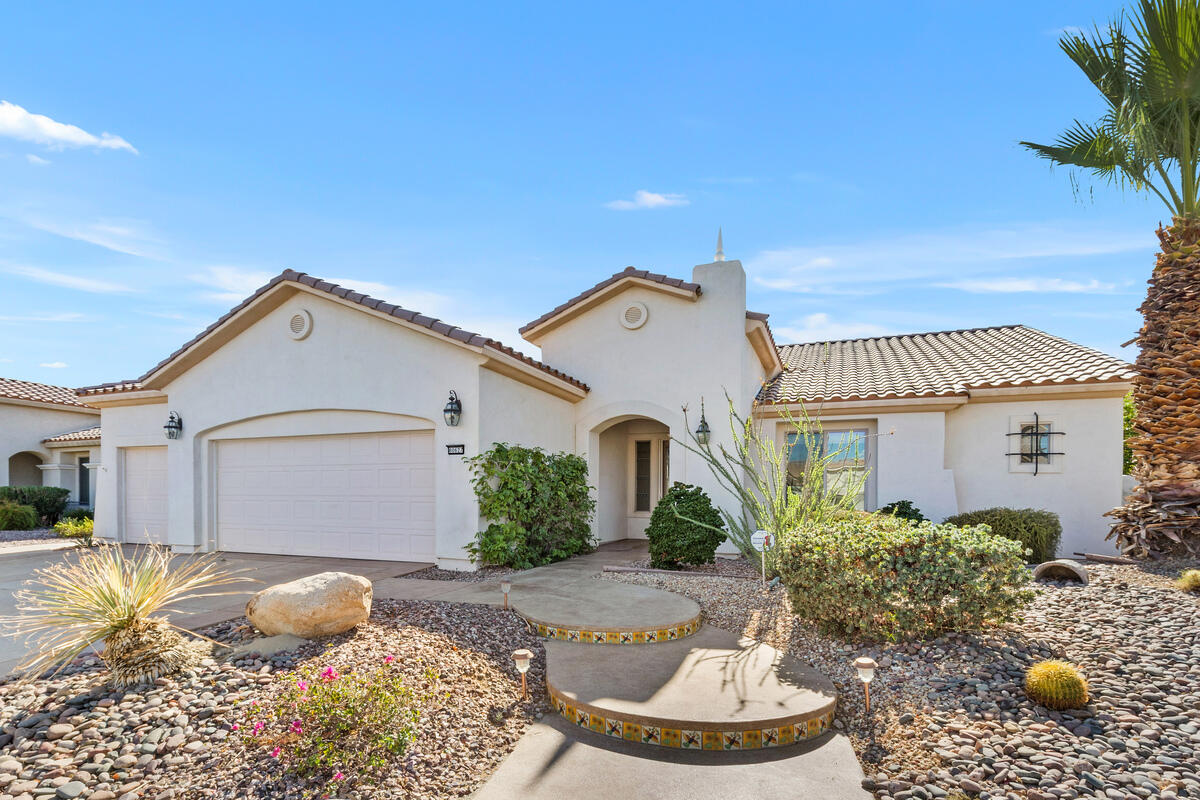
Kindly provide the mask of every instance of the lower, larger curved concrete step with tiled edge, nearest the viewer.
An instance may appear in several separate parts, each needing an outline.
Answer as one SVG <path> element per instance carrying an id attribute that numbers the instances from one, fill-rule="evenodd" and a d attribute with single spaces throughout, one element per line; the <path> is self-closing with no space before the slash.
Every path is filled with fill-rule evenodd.
<path id="1" fill-rule="evenodd" d="M 779 650 L 714 627 L 654 648 L 546 643 L 546 688 L 574 724 L 683 750 L 757 750 L 818 736 L 833 682 Z"/>

